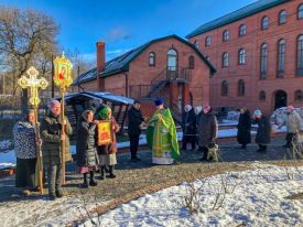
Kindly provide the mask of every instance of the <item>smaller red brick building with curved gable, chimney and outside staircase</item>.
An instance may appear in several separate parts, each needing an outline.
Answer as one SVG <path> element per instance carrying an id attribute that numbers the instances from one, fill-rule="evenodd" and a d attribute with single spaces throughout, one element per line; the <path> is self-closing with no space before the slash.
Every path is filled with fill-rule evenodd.
<path id="1" fill-rule="evenodd" d="M 180 112 L 185 104 L 209 102 L 209 77 L 214 73 L 206 57 L 176 35 L 150 41 L 108 62 L 105 43 L 98 42 L 97 67 L 80 75 L 74 90 L 106 90 L 150 104 L 161 96 Z M 149 111 L 149 105 L 144 106 Z"/>

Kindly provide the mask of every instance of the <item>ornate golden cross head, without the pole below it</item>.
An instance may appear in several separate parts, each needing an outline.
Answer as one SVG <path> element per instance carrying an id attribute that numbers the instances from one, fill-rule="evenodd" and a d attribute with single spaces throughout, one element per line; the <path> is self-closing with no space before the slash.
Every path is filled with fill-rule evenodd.
<path id="1" fill-rule="evenodd" d="M 28 71 L 26 74 L 30 76 L 30 78 L 25 76 L 21 76 L 21 78 L 18 80 L 18 84 L 23 88 L 30 88 L 31 89 L 31 98 L 30 98 L 30 104 L 33 105 L 34 107 L 37 107 L 40 104 L 40 98 L 37 96 L 37 89 L 42 88 L 45 89 L 48 86 L 48 82 L 41 77 L 40 79 L 36 78 L 39 75 L 39 72 L 31 66 Z"/>

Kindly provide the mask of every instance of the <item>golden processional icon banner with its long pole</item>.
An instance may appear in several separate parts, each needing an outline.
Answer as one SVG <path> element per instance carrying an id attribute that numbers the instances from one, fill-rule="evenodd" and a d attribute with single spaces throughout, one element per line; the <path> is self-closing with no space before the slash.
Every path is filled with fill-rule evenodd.
<path id="1" fill-rule="evenodd" d="M 62 120 L 62 129 L 61 134 L 65 134 L 65 115 L 64 115 L 64 96 L 66 93 L 66 88 L 71 86 L 73 83 L 72 79 L 72 68 L 73 65 L 69 60 L 67 60 L 62 53 L 61 57 L 56 57 L 54 60 L 54 83 L 61 89 L 62 98 L 61 98 L 61 120 Z M 62 158 L 62 175 L 63 175 L 63 185 L 65 184 L 65 141 L 61 140 L 61 158 Z"/>

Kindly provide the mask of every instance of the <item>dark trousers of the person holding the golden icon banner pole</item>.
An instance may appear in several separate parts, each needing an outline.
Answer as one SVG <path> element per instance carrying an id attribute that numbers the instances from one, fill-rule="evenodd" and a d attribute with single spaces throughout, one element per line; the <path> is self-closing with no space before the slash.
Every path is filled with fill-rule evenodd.
<path id="1" fill-rule="evenodd" d="M 62 184 L 62 164 L 47 166 L 48 193 L 54 194 L 61 190 Z"/>

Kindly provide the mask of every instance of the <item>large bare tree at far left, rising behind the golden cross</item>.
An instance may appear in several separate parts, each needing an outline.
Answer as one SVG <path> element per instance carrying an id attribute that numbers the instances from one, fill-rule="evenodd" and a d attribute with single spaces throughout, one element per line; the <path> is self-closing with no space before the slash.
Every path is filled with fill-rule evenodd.
<path id="1" fill-rule="evenodd" d="M 56 52 L 56 35 L 59 28 L 51 18 L 36 10 L 20 10 L 17 8 L 0 9 L 0 65 L 7 72 L 13 72 L 13 94 L 17 90 L 15 80 L 33 64 L 50 71 L 51 55 Z M 26 91 L 23 90 L 23 109 L 26 107 Z"/>

